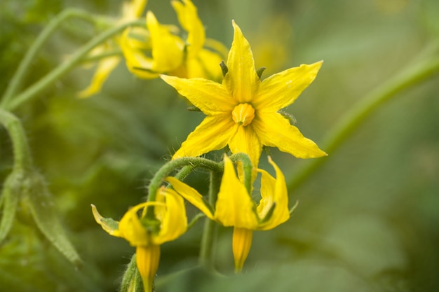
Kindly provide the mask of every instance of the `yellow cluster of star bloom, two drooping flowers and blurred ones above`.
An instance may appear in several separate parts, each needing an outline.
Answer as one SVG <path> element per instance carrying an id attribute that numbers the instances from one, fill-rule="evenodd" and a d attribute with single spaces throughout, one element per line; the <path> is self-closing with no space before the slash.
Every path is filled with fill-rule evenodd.
<path id="1" fill-rule="evenodd" d="M 137 5 L 144 2 L 137 1 Z M 252 232 L 270 230 L 288 221 L 294 209 L 289 207 L 285 178 L 273 159 L 268 158 L 275 176 L 258 168 L 263 147 L 276 147 L 297 158 L 326 155 L 281 112 L 313 82 L 322 62 L 302 64 L 262 80 L 262 70 L 255 68 L 250 44 L 234 21 L 234 39 L 227 62 L 222 62 L 222 45 L 205 39 L 194 4 L 183 0 L 172 1 L 172 5 L 187 32 L 186 39 L 175 34 L 176 27 L 161 25 L 149 11 L 146 27 L 126 29 L 118 43 L 133 74 L 160 77 L 202 111 L 205 118 L 182 143 L 173 160 L 154 176 L 148 202 L 131 208 L 119 223 L 103 218 L 93 206 L 95 220 L 105 231 L 136 246 L 144 291 L 153 289 L 160 245 L 187 230 L 184 200 L 210 221 L 234 227 L 235 272 L 241 272 L 250 251 Z M 208 43 L 215 50 L 205 48 Z M 221 74 L 222 83 L 217 83 Z M 198 158 L 223 148 L 226 153 L 221 162 L 209 164 L 206 158 Z M 203 162 L 197 164 L 199 159 Z M 210 190 L 213 195 L 209 200 L 184 183 L 184 175 L 169 175 L 184 165 L 208 168 L 219 177 L 219 188 Z M 258 174 L 260 200 L 255 202 L 252 184 Z M 164 181 L 168 186 L 163 185 Z"/>

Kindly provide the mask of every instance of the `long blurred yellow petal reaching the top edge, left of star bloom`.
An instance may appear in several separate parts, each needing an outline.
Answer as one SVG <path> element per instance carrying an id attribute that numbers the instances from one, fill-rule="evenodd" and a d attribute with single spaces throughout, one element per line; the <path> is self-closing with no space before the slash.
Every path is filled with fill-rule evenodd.
<path id="1" fill-rule="evenodd" d="M 178 21 L 187 34 L 187 57 L 189 59 L 196 57 L 198 52 L 203 48 L 205 41 L 205 32 L 203 23 L 198 18 L 196 6 L 190 0 L 172 1 Z"/>

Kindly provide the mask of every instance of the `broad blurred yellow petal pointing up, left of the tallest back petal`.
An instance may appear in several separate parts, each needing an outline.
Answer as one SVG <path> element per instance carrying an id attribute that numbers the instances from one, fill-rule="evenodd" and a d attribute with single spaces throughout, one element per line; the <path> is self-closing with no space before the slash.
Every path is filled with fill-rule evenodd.
<path id="1" fill-rule="evenodd" d="M 160 25 L 154 13 L 147 13 L 147 28 L 151 35 L 152 71 L 165 73 L 172 71 L 183 62 L 184 42 L 170 32 L 168 27 Z"/>

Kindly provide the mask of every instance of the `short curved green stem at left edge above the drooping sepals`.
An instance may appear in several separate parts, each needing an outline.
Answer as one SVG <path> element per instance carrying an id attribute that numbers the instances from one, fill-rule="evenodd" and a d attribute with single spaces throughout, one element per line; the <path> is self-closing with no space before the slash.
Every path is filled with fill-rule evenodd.
<path id="1" fill-rule="evenodd" d="M 11 137 L 14 155 L 14 170 L 28 171 L 33 168 L 32 155 L 20 119 L 8 111 L 0 109 L 0 123 Z"/>

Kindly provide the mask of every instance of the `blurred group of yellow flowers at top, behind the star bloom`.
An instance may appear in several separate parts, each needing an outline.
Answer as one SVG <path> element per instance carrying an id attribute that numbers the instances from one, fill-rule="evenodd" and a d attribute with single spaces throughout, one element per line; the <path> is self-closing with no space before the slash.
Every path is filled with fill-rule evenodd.
<path id="1" fill-rule="evenodd" d="M 180 25 L 187 34 L 182 39 L 178 27 L 162 25 L 151 11 L 147 12 L 146 27 L 128 27 L 125 31 L 93 50 L 93 55 L 111 52 L 119 47 L 128 69 L 140 78 L 158 78 L 159 74 L 179 77 L 204 77 L 219 80 L 221 69 L 217 66 L 227 48 L 213 39 L 206 39 L 203 23 L 190 0 L 171 2 Z M 133 0 L 123 5 L 123 15 L 116 24 L 140 18 L 147 0 Z M 100 92 L 109 74 L 121 61 L 118 55 L 104 57 L 97 63 L 91 84 L 79 92 L 79 97 L 90 97 Z"/>

